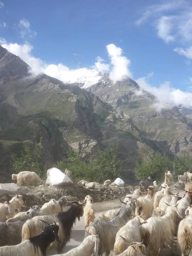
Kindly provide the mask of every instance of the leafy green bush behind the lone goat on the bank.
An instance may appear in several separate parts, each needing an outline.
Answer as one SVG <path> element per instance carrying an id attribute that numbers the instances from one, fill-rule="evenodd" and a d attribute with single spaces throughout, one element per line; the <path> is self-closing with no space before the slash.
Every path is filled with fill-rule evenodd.
<path id="1" fill-rule="evenodd" d="M 36 172 L 41 178 L 44 178 L 46 174 L 46 166 L 42 161 L 41 154 L 42 138 L 35 144 L 34 150 L 32 150 L 27 143 L 23 143 L 23 150 L 21 150 L 20 156 L 12 153 L 12 170 L 15 173 L 22 171 Z"/>

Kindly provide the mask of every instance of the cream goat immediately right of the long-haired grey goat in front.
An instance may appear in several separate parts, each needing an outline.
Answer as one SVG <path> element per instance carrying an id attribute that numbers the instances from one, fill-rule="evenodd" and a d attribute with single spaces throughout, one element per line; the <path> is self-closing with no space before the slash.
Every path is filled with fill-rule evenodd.
<path id="1" fill-rule="evenodd" d="M 146 223 L 146 221 L 140 216 L 136 216 L 119 229 L 115 238 L 114 255 L 118 255 L 126 250 L 129 246 L 128 243 L 131 243 L 132 241 L 141 242 L 139 226 L 142 223 Z M 124 237 L 124 239 L 122 237 Z"/>

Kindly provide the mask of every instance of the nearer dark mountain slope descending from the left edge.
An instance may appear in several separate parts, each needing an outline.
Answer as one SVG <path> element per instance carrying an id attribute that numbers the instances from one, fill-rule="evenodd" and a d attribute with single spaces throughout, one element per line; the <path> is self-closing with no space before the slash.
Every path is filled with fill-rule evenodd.
<path id="1" fill-rule="evenodd" d="M 98 146 L 115 146 L 123 178 L 134 180 L 135 163 L 153 152 L 153 143 L 143 139 L 130 117 L 78 83 L 64 84 L 45 74 L 34 77 L 28 69 L 0 46 L 0 179 L 10 180 L 10 154 L 20 153 L 23 142 L 33 146 L 42 137 L 47 168 L 67 160 L 68 147 L 89 157 Z"/>

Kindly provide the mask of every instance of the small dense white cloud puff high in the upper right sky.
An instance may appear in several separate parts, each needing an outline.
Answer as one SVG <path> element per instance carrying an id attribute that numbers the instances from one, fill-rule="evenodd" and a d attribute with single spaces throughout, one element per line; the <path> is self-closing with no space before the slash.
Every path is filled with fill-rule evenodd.
<path id="1" fill-rule="evenodd" d="M 174 36 L 172 36 L 171 30 L 172 30 L 172 17 L 162 16 L 157 21 L 157 30 L 158 30 L 158 36 L 162 38 L 166 43 L 169 43 L 170 41 L 174 41 Z"/>

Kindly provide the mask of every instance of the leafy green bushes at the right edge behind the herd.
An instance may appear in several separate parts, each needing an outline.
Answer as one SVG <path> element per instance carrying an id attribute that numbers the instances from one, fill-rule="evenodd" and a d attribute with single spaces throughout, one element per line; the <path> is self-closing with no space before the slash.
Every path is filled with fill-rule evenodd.
<path id="1" fill-rule="evenodd" d="M 155 155 L 150 156 L 148 160 L 142 161 L 135 166 L 136 179 L 147 179 L 151 176 L 153 180 L 163 180 L 164 173 L 171 171 L 173 178 L 178 180 L 178 175 L 184 172 L 191 172 L 192 170 L 192 158 L 187 152 L 183 153 L 183 156 L 170 158 L 166 155 L 161 155 L 157 152 Z"/>

